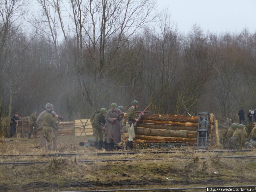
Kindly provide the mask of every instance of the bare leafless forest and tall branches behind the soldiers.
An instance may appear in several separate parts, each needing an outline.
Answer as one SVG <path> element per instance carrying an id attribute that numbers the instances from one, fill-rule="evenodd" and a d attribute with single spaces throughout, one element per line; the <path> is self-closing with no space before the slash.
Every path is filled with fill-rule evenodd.
<path id="1" fill-rule="evenodd" d="M 152 0 L 35 2 L 0 3 L 0 125 L 46 103 L 66 121 L 133 100 L 224 121 L 256 107 L 256 32 L 181 34 Z"/>

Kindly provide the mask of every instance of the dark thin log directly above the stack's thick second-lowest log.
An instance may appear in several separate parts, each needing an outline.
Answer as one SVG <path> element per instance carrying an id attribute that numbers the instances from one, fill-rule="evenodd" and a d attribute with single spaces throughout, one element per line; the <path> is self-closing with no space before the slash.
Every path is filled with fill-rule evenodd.
<path id="1" fill-rule="evenodd" d="M 138 123 L 138 127 L 145 127 L 150 129 L 169 129 L 169 130 L 184 130 L 184 131 L 197 131 L 198 127 L 183 127 L 177 125 L 164 125 L 154 123 Z"/>

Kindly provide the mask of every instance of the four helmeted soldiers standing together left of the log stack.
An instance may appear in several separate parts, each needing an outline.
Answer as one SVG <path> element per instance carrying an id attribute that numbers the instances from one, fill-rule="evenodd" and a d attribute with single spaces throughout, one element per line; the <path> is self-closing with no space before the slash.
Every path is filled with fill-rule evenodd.
<path id="1" fill-rule="evenodd" d="M 125 146 L 129 149 L 133 148 L 133 139 L 135 138 L 133 123 L 139 121 L 136 118 L 135 111 L 139 107 L 139 102 L 134 100 L 127 112 L 127 121 L 125 124 L 129 138 Z M 121 127 L 123 119 L 123 106 L 118 106 L 116 103 L 111 104 L 111 109 L 101 108 L 99 113 L 91 117 L 92 130 L 94 135 L 94 147 L 107 151 L 113 150 L 114 146 L 121 142 Z"/>

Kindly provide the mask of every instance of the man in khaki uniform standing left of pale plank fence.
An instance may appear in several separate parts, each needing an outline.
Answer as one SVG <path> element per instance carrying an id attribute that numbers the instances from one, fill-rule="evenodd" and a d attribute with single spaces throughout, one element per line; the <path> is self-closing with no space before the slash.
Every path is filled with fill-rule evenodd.
<path id="1" fill-rule="evenodd" d="M 56 121 L 58 121 L 59 115 L 55 115 L 53 117 L 51 113 L 53 110 L 52 104 L 49 104 L 48 106 L 46 106 L 46 110 L 47 112 L 44 114 L 42 132 L 43 132 L 44 138 L 46 138 L 46 141 L 47 141 L 47 150 L 51 150 L 54 139 L 55 139 L 55 135 L 54 135 L 54 129 L 56 128 L 55 123 Z"/>

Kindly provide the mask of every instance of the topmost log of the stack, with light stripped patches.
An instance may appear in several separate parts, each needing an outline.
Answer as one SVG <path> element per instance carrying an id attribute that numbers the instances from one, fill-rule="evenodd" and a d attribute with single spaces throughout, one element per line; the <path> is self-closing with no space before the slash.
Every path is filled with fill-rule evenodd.
<path id="1" fill-rule="evenodd" d="M 153 120 L 153 121 L 178 121 L 178 122 L 191 122 L 198 123 L 198 117 L 183 116 L 183 115 L 143 115 L 141 119 Z"/>

